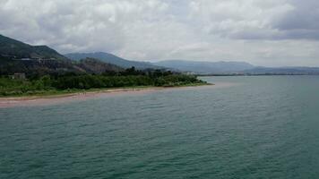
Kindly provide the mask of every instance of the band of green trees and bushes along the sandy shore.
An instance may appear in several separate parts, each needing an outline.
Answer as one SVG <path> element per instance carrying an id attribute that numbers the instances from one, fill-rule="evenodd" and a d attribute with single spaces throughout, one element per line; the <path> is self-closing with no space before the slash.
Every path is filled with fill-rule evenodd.
<path id="1" fill-rule="evenodd" d="M 206 84 L 193 75 L 173 72 L 136 71 L 134 67 L 124 72 L 102 74 L 65 73 L 44 75 L 29 80 L 0 78 L 0 96 L 46 95 L 76 92 L 79 90 L 127 88 L 127 87 L 177 87 Z"/>

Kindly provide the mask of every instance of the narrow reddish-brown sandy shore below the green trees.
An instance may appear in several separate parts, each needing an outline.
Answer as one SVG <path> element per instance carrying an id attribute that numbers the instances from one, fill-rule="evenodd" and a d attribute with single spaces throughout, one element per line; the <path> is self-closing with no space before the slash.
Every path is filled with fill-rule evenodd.
<path id="1" fill-rule="evenodd" d="M 120 94 L 143 94 L 156 90 L 168 90 L 179 88 L 196 88 L 200 86 L 211 86 L 214 84 L 193 84 L 189 86 L 177 87 L 132 87 L 132 88 L 118 88 L 118 89 L 96 89 L 96 90 L 83 90 L 71 93 L 61 93 L 52 95 L 35 95 L 35 96 L 22 96 L 22 97 L 1 97 L 0 108 L 8 107 L 29 107 L 29 106 L 45 106 L 65 103 L 73 100 L 85 100 L 89 98 L 100 98 L 110 95 Z"/>

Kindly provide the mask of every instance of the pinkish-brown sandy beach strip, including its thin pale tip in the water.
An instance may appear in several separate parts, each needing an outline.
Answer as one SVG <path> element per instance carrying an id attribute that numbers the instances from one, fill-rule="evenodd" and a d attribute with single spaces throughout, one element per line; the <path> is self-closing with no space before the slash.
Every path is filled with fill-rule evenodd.
<path id="1" fill-rule="evenodd" d="M 81 101 L 90 98 L 102 98 L 114 95 L 127 95 L 127 94 L 145 94 L 159 90 L 187 90 L 190 88 L 225 88 L 233 86 L 233 83 L 218 83 L 215 85 L 204 86 L 190 86 L 190 87 L 150 87 L 150 88 L 132 88 L 132 89 L 110 89 L 98 90 L 90 92 L 77 92 L 61 95 L 50 96 L 30 96 L 30 97 L 8 97 L 0 98 L 0 108 L 9 107 L 32 107 L 32 106 L 47 106 L 66 103 L 70 101 Z"/>

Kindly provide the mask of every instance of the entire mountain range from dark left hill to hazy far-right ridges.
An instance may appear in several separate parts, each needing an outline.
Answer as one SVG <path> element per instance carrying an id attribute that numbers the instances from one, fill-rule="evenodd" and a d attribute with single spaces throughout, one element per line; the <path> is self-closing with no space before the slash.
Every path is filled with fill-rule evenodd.
<path id="1" fill-rule="evenodd" d="M 47 46 L 30 46 L 13 38 L 0 35 L 0 72 L 90 72 L 137 69 L 168 69 L 197 74 L 319 74 L 318 67 L 254 66 L 246 62 L 201 62 L 164 60 L 157 63 L 126 60 L 104 52 L 72 53 L 61 55 Z"/>

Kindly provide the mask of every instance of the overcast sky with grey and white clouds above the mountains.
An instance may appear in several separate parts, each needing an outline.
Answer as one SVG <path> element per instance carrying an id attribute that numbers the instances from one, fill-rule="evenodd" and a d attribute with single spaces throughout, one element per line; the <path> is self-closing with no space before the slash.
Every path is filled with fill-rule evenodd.
<path id="1" fill-rule="evenodd" d="M 318 0 L 0 0 L 0 33 L 60 53 L 319 66 Z"/>

